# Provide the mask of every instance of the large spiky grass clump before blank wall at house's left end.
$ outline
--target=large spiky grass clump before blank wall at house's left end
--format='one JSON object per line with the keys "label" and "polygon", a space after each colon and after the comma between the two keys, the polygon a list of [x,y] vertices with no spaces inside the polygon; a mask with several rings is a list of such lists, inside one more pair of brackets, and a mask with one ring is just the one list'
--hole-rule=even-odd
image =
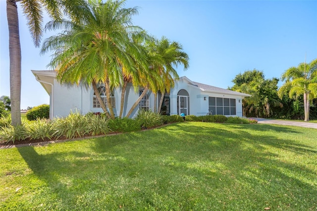
{"label": "large spiky grass clump before blank wall at house's left end", "polygon": [[78,111],[71,111],[65,118],[55,118],[53,120],[53,130],[53,136],[56,139],[62,136],[67,139],[73,139],[90,133],[88,118],[81,115]]}

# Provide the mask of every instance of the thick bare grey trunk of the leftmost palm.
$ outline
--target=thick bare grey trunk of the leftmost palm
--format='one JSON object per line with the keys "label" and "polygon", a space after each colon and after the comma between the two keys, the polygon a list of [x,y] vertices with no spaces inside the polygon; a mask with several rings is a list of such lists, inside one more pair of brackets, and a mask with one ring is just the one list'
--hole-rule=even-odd
{"label": "thick bare grey trunk of the leftmost palm", "polygon": [[15,0],[6,0],[9,27],[11,125],[21,124],[21,45],[19,18]]}

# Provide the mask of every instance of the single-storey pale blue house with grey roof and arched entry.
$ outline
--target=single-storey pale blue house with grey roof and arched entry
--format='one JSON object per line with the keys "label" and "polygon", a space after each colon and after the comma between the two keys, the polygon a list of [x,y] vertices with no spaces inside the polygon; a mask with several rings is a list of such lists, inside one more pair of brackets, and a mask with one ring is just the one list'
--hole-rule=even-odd
{"label": "single-storey pale blue house with grey roof and arched entry", "polygon": [[[32,70],[36,80],[39,81],[50,95],[50,118],[55,116],[67,116],[71,110],[79,110],[85,114],[88,112],[103,112],[93,88],[82,84],[59,84],[56,80],[56,72],[53,70]],[[105,87],[100,86],[99,92],[106,103]],[[135,92],[132,84],[129,84],[125,93],[123,116],[127,114],[132,105],[141,95],[142,90]],[[250,95],[222,89],[206,84],[193,82],[186,76],[175,81],[175,86],[169,94],[164,95],[162,110],[167,115],[207,115],[222,114],[226,116],[242,116],[242,99]],[[156,102],[159,103],[160,95]],[[154,110],[155,95],[149,91],[141,100],[132,117],[138,109]],[[115,89],[111,94],[111,104],[116,116],[120,112],[121,89]],[[158,107],[158,106],[157,106]]]}

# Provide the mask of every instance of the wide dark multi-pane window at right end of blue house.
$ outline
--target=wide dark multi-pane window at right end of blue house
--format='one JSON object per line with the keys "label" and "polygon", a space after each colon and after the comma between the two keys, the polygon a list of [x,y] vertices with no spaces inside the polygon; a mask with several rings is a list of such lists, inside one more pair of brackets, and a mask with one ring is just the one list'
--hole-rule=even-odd
{"label": "wide dark multi-pane window at right end of blue house", "polygon": [[209,97],[209,113],[211,115],[236,115],[236,99]]}

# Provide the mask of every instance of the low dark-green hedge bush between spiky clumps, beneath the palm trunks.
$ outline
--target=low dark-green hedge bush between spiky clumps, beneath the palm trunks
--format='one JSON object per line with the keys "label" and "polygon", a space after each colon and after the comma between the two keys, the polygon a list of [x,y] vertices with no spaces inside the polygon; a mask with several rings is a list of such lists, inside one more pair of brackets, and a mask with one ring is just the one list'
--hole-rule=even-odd
{"label": "low dark-green hedge bush between spiky clumps, beneath the palm trunks", "polygon": [[135,119],[130,119],[127,117],[115,119],[109,119],[109,129],[113,132],[132,132],[132,131],[139,131],[141,130],[140,123]]}

